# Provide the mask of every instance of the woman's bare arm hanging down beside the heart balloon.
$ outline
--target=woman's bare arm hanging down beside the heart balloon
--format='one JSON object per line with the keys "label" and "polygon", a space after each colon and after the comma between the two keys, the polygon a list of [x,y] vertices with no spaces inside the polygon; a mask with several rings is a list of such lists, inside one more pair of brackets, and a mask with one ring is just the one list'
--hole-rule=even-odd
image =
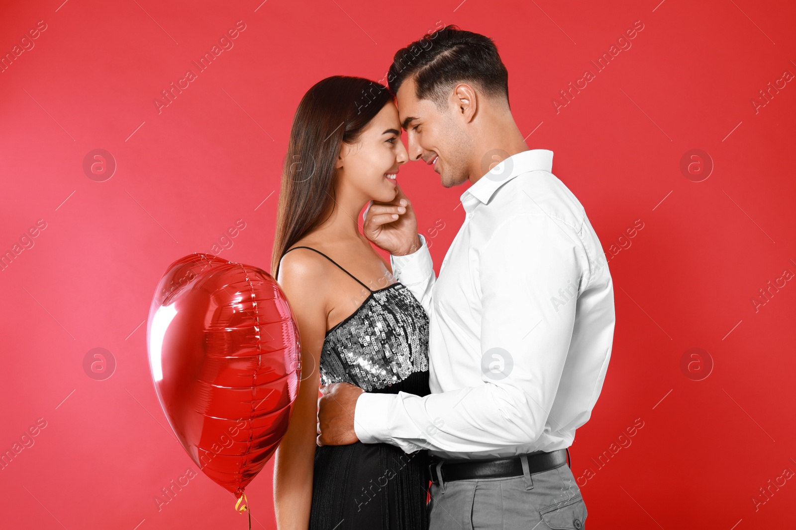
{"label": "woman's bare arm hanging down beside the heart balloon", "polygon": [[318,421],[318,359],[326,336],[326,302],[321,267],[301,250],[279,266],[279,284],[287,296],[301,341],[302,381],[291,421],[274,461],[274,508],[279,530],[306,530],[310,524],[312,479]]}

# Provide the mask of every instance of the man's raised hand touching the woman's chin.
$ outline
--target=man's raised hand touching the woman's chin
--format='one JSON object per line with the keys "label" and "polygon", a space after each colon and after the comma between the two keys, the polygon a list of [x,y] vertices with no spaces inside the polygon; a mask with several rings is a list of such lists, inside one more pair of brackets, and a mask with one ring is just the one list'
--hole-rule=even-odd
{"label": "man's raised hand touching the woman's chin", "polygon": [[[417,237],[417,218],[412,203],[400,186],[396,185],[396,196],[388,203],[371,201],[365,211],[362,230],[365,237],[393,256],[404,256],[420,248]],[[397,215],[393,218],[392,215]]]}

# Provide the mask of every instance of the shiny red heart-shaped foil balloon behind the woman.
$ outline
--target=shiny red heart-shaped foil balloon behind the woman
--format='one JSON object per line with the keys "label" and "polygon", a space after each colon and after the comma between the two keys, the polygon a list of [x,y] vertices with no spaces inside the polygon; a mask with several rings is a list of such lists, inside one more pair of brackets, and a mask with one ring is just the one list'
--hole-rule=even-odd
{"label": "shiny red heart-shaped foil balloon behind the woman", "polygon": [[287,431],[301,379],[298,327],[279,284],[211,254],[182,257],[155,291],[146,344],[177,439],[241,497]]}

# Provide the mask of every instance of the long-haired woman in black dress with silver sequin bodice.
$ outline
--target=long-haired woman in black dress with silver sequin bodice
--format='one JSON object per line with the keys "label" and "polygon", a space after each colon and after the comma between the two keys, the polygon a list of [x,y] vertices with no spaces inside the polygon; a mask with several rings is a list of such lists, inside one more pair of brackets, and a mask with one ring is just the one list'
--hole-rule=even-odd
{"label": "long-haired woman in black dress with silver sequin bodice", "polygon": [[[274,470],[280,530],[427,527],[427,454],[388,444],[316,445],[318,385],[419,396],[428,317],[357,225],[370,201],[410,208],[395,177],[408,160],[387,88],[335,75],[298,104],[285,158],[271,270],[298,324],[302,382]],[[404,221],[404,217],[408,218]]]}

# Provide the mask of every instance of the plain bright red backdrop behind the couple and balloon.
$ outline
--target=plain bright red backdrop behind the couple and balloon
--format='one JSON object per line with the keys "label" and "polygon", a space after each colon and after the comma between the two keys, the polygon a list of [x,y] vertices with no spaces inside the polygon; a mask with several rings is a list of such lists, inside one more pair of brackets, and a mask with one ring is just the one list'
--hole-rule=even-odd
{"label": "plain bright red backdrop behind the couple and balloon", "polygon": [[[201,473],[160,511],[154,501],[196,470],[150,379],[154,287],[238,219],[244,230],[218,255],[270,269],[303,93],[328,75],[382,79],[398,48],[451,23],[495,39],[517,125],[530,148],[555,153],[553,172],[612,256],[613,358],[572,446],[576,477],[594,473],[579,479],[587,528],[793,520],[794,479],[767,497],[759,488],[796,471],[796,286],[780,280],[757,311],[751,302],[796,273],[794,82],[757,112],[751,103],[796,72],[792,2],[62,1],[2,2],[0,13],[3,55],[47,25],[0,73],[0,252],[46,223],[0,273],[0,451],[46,422],[0,470],[5,528],[246,527]],[[234,47],[158,113],[154,99],[236,21],[246,29]],[[632,47],[556,113],[552,99],[635,21]],[[115,159],[109,180],[84,173],[92,149]],[[707,180],[681,172],[689,149],[712,158]],[[439,268],[465,188],[442,188],[424,164],[399,178]],[[643,229],[613,256],[637,219]],[[96,347],[116,363],[104,381],[83,367]],[[681,369],[694,347],[703,364]],[[712,372],[694,381],[708,356]],[[636,419],[631,445],[598,466]],[[247,490],[253,528],[274,527],[271,475],[272,462]]]}

